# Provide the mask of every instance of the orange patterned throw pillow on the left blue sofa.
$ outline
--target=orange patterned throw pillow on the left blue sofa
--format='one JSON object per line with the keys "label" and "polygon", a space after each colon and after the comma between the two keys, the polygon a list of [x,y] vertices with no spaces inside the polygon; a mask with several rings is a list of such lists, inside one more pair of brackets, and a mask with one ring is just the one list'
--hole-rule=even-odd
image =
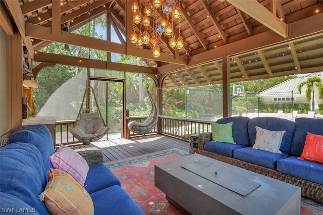
{"label": "orange patterned throw pillow on the left blue sofa", "polygon": [[94,214],[91,196],[70,174],[49,169],[48,180],[39,199],[51,214]]}

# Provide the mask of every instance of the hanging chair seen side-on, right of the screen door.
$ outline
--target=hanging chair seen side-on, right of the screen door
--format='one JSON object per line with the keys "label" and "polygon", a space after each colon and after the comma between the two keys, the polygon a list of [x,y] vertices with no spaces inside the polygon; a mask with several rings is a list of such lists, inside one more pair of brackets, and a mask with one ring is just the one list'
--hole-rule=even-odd
{"label": "hanging chair seen side-on, right of the screen door", "polygon": [[158,110],[157,110],[157,103],[156,101],[152,98],[150,92],[147,90],[149,99],[151,101],[151,112],[149,117],[142,122],[130,122],[128,123],[128,128],[130,131],[137,133],[137,134],[146,134],[149,131],[151,131],[157,124],[158,121]]}

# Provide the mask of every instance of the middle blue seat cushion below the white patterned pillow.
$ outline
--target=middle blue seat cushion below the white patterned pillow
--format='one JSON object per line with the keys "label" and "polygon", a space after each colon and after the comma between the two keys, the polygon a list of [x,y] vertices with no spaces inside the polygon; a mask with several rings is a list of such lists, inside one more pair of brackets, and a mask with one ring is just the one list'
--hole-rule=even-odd
{"label": "middle blue seat cushion below the white patterned pillow", "polygon": [[277,160],[288,157],[288,154],[286,152],[282,152],[282,154],[272,153],[248,146],[234,150],[233,157],[251,164],[276,170]]}

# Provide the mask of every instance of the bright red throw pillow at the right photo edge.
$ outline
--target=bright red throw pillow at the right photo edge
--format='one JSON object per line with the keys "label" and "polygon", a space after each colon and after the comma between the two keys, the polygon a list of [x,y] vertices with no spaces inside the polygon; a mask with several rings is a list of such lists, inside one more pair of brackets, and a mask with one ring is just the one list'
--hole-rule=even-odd
{"label": "bright red throw pillow at the right photo edge", "polygon": [[323,164],[323,136],[307,132],[302,160]]}

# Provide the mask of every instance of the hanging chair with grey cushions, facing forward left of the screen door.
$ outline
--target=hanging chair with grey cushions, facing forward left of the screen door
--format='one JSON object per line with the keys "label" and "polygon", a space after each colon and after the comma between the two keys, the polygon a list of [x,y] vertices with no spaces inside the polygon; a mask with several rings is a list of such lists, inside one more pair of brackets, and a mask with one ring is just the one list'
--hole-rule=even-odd
{"label": "hanging chair with grey cushions, facing forward left of the screen door", "polygon": [[[87,97],[87,101],[92,98],[92,102],[86,102],[87,105],[84,105],[85,97]],[[70,132],[78,140],[84,143],[90,143],[102,138],[107,131],[109,131],[109,128],[106,127],[106,124],[102,119],[94,89],[93,87],[88,86],[83,95],[79,114]]]}

